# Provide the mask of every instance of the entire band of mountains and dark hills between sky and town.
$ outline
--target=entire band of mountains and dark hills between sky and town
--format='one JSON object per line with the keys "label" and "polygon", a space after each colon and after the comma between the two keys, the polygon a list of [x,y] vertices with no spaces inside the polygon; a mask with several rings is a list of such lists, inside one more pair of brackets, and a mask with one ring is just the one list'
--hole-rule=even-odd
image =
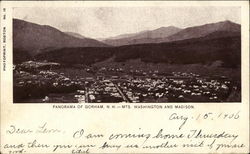
{"label": "entire band of mountains and dark hills between sky and town", "polygon": [[238,67],[241,26],[222,21],[185,29],[174,26],[124,34],[101,41],[51,26],[13,20],[14,63],[46,60],[63,64],[94,64],[112,59],[125,62],[211,64]]}

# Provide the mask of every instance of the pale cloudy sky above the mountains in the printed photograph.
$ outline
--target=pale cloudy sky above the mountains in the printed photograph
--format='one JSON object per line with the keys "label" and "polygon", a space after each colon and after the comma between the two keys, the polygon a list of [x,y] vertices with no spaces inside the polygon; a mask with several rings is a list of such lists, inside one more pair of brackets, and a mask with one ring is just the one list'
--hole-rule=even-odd
{"label": "pale cloudy sky above the mountains in the printed photograph", "polygon": [[13,17],[63,32],[108,38],[160,27],[187,28],[230,20],[240,24],[240,7],[82,7],[14,8]]}

